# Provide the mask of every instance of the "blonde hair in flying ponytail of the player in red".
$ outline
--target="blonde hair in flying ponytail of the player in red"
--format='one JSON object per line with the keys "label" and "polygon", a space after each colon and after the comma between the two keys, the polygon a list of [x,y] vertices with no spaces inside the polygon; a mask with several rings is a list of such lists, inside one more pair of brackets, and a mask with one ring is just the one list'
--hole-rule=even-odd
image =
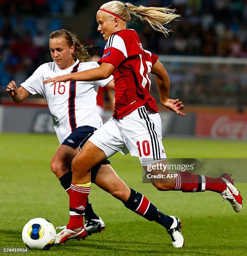
{"label": "blonde hair in flying ponytail of the player in red", "polygon": [[[165,25],[180,17],[180,15],[174,13],[174,9],[145,7],[143,5],[135,6],[131,3],[123,3],[121,1],[110,1],[103,4],[100,9],[108,10],[125,19],[125,21],[121,20],[120,22],[125,22],[126,25],[130,22],[130,14],[132,14],[142,21],[147,21],[154,30],[163,33],[165,36],[168,35],[168,32],[171,32]],[[113,18],[111,14],[107,13],[107,16],[109,19]]]}

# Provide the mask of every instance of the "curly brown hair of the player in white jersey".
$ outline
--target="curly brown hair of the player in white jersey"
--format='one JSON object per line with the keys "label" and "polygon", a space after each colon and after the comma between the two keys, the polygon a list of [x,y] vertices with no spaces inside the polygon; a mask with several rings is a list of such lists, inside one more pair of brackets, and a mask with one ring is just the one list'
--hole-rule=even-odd
{"label": "curly brown hair of the player in white jersey", "polygon": [[66,29],[59,29],[53,31],[50,34],[50,39],[63,37],[67,41],[67,45],[71,47],[72,45],[75,46],[75,51],[72,54],[74,59],[79,59],[81,62],[88,62],[90,61],[90,55],[87,51],[91,46],[84,46],[80,43],[79,39],[76,37],[75,34],[67,31]]}

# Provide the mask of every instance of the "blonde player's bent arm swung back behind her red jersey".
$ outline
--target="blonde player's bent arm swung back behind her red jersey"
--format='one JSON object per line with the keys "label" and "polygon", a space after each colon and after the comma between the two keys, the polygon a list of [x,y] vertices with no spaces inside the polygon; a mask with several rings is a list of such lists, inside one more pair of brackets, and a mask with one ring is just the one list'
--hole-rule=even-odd
{"label": "blonde player's bent arm swung back behind her red jersey", "polygon": [[181,112],[184,106],[181,101],[178,99],[173,100],[169,99],[170,93],[170,80],[168,73],[165,67],[161,64],[159,60],[155,62],[151,69],[151,73],[155,74],[155,80],[158,85],[159,95],[160,95],[160,102],[161,104],[168,108],[171,111],[176,112],[178,115],[185,116],[184,113]]}

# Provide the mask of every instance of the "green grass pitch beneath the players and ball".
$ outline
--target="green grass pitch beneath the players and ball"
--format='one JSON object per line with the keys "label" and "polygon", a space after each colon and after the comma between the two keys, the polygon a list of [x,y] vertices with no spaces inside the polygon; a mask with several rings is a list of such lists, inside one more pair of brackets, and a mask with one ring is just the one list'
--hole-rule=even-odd
{"label": "green grass pitch beneath the players and ball", "polygon": [[[29,219],[47,218],[54,226],[67,223],[68,196],[50,171],[50,159],[58,146],[55,136],[0,134],[0,141],[0,247],[18,248],[23,247],[21,230]],[[173,158],[247,156],[247,142],[241,141],[166,139],[163,144]],[[116,154],[110,160],[129,187],[145,194],[164,213],[181,218],[186,247],[173,248],[164,228],[132,213],[93,185],[90,201],[106,230],[85,241],[71,240],[29,255],[246,255],[245,207],[237,214],[213,192],[159,192],[142,183],[137,158]],[[238,188],[246,198],[246,184]]]}

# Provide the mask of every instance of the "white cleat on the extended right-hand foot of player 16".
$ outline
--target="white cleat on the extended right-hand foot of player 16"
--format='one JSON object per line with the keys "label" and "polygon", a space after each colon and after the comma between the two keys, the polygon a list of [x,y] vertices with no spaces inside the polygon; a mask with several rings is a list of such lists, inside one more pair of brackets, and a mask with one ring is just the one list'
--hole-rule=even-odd
{"label": "white cleat on the extended right-hand foot of player 16", "polygon": [[172,245],[176,248],[184,247],[185,241],[181,234],[181,221],[175,216],[169,216],[173,218],[171,227],[167,230],[167,233],[171,236]]}

